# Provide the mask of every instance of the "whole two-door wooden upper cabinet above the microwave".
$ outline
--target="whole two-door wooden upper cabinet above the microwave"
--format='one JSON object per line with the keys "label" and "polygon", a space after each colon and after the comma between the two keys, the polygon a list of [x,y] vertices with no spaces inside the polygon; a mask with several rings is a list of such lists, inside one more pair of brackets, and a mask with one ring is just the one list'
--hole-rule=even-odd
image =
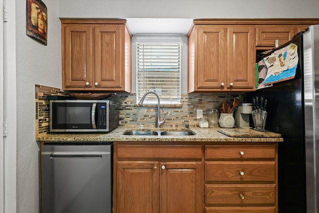
{"label": "whole two-door wooden upper cabinet above the microwave", "polygon": [[62,19],[62,87],[131,92],[126,20]]}

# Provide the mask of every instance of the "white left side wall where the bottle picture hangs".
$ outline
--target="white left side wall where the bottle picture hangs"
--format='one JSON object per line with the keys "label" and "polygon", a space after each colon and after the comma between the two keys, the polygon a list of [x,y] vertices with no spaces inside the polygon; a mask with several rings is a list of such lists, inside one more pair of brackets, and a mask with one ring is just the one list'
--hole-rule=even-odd
{"label": "white left side wall where the bottle picture hangs", "polygon": [[47,46],[25,33],[26,0],[16,0],[17,212],[39,212],[39,147],[35,142],[34,85],[61,88],[61,24],[58,1],[48,9]]}

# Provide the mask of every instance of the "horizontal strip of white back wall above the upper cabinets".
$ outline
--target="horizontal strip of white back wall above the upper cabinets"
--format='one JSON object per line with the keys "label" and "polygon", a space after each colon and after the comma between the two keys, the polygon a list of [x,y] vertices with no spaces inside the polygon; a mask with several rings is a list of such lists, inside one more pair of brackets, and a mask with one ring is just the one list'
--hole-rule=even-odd
{"label": "horizontal strip of white back wall above the upper cabinets", "polygon": [[60,0],[60,17],[318,17],[318,0]]}

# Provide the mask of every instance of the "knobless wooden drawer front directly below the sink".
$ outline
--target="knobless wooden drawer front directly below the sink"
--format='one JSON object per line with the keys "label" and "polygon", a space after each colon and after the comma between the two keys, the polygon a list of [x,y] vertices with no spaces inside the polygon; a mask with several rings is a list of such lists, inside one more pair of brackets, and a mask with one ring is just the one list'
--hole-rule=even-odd
{"label": "knobless wooden drawer front directly below the sink", "polygon": [[118,158],[185,158],[201,159],[202,147],[196,145],[130,145],[117,146]]}

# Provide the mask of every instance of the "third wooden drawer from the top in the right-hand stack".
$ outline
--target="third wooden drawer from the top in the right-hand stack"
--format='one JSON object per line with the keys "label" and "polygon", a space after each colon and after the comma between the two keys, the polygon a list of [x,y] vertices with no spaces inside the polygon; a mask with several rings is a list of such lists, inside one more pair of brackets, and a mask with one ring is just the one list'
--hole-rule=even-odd
{"label": "third wooden drawer from the top in the right-hand stack", "polygon": [[276,185],[205,185],[205,205],[275,205]]}

